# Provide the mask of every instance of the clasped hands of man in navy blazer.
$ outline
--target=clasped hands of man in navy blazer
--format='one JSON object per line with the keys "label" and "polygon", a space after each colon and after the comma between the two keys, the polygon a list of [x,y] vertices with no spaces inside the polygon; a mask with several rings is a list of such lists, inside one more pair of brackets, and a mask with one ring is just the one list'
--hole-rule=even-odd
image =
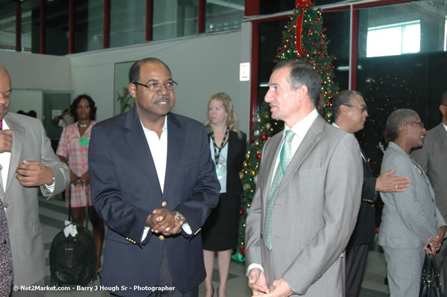
{"label": "clasped hands of man in navy blazer", "polygon": [[183,222],[168,209],[154,209],[146,219],[146,224],[150,226],[150,231],[170,236],[182,231]]}

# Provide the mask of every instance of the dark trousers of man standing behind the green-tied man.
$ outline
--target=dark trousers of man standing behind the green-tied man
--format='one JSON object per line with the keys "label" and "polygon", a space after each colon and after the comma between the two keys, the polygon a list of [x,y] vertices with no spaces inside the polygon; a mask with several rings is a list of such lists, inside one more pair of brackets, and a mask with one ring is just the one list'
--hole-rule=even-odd
{"label": "dark trousers of man standing behind the green-tied man", "polygon": [[369,244],[346,247],[346,297],[358,297]]}

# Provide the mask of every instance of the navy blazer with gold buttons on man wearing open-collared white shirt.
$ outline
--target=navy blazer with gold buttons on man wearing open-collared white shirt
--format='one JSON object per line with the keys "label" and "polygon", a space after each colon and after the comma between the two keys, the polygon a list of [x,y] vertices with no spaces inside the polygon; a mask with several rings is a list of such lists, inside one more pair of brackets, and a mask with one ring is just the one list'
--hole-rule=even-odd
{"label": "navy blazer with gold buttons on man wearing open-collared white shirt", "polygon": [[[91,132],[93,205],[108,225],[102,284],[118,286],[113,292],[118,296],[148,296],[150,291],[133,286],[155,286],[163,256],[180,292],[205,279],[199,232],[218,202],[220,185],[205,126],[173,113],[167,119],[163,193],[135,107],[96,124]],[[163,205],[183,214],[192,234],[182,231],[163,239],[149,232],[141,241],[146,218]]]}

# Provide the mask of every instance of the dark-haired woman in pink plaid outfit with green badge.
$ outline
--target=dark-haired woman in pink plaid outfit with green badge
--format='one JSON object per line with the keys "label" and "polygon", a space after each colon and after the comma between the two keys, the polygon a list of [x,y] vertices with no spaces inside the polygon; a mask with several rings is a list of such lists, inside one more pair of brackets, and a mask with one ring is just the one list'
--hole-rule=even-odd
{"label": "dark-haired woman in pink plaid outfit with green badge", "polygon": [[88,174],[88,142],[90,141],[91,128],[95,125],[95,101],[89,95],[78,95],[70,108],[75,123],[63,128],[56,155],[71,170],[70,190],[66,192],[66,197],[68,197],[66,204],[68,205],[68,199],[70,199],[73,223],[79,226],[83,225],[88,203],[88,217],[93,225],[93,237],[96,246],[96,268],[100,270],[104,224],[96,214],[91,202]]}

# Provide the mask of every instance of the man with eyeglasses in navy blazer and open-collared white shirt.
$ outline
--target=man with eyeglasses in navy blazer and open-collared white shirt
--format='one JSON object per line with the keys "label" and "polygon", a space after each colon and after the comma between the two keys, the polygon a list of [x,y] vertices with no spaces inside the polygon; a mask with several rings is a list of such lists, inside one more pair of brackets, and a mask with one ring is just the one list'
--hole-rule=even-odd
{"label": "man with eyeglasses in navy blazer and open-collared white shirt", "polygon": [[220,184],[205,126],[170,113],[177,85],[157,58],[133,64],[135,106],[92,130],[93,205],[108,225],[102,285],[116,296],[198,296],[200,228]]}

